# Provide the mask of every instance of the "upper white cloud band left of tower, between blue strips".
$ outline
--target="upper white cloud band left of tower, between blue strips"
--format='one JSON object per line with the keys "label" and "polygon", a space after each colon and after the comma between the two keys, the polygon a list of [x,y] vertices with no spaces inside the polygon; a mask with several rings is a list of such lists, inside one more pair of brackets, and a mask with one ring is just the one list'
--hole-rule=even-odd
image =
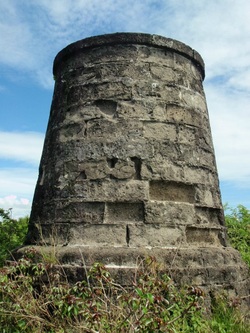
{"label": "upper white cloud band left of tower, between blue strips", "polygon": [[38,165],[43,141],[42,133],[0,131],[0,158]]}

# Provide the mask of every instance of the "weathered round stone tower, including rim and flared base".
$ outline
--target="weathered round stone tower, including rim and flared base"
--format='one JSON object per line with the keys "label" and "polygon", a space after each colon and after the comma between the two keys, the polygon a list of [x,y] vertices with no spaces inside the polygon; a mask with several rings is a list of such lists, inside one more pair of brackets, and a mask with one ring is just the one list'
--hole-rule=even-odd
{"label": "weathered round stone tower, including rim and flared base", "polygon": [[87,38],[54,62],[27,244],[121,280],[154,255],[181,282],[246,291],[227,247],[201,56],[148,34]]}

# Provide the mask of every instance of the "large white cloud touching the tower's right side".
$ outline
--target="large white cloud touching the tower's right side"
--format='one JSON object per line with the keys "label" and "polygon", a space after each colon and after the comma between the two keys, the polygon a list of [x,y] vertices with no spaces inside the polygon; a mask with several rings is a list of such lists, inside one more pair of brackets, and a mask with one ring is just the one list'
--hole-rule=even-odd
{"label": "large white cloud touching the tower's right side", "polygon": [[250,98],[212,83],[206,96],[220,178],[250,186]]}

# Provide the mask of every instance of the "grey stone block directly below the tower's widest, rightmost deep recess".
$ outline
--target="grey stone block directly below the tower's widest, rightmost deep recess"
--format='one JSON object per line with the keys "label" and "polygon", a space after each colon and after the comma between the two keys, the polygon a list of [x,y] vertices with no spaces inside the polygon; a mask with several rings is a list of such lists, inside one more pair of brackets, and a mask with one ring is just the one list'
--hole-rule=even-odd
{"label": "grey stone block directly below the tower's widest, rightmost deep recess", "polygon": [[177,226],[195,222],[195,210],[192,204],[166,201],[145,203],[145,223]]}

